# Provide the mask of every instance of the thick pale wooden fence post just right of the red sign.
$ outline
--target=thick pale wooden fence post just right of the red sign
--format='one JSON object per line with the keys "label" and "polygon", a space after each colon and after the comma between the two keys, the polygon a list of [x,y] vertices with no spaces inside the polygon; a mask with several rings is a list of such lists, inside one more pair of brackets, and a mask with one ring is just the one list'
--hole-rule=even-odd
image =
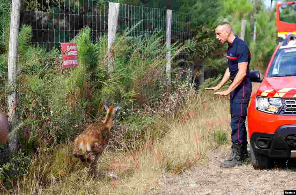
{"label": "thick pale wooden fence post just right of the red sign", "polygon": [[110,74],[113,70],[114,55],[111,47],[115,41],[116,29],[118,24],[119,3],[109,3],[108,10],[108,48],[107,48],[107,72]]}

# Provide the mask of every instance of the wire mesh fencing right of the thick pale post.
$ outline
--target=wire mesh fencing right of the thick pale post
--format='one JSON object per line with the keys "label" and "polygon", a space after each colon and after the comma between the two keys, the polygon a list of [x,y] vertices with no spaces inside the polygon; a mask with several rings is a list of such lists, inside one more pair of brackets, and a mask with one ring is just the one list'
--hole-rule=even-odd
{"label": "wire mesh fencing right of the thick pale post", "polygon": [[[118,31],[123,32],[126,28],[131,29],[134,24],[139,25],[131,31],[131,36],[150,36],[153,32],[158,32],[163,37],[163,44],[166,41],[166,9],[149,8],[120,4]],[[184,42],[190,39],[190,18],[189,14],[172,11],[171,20],[171,43]],[[176,56],[182,68],[187,67],[185,52]]]}

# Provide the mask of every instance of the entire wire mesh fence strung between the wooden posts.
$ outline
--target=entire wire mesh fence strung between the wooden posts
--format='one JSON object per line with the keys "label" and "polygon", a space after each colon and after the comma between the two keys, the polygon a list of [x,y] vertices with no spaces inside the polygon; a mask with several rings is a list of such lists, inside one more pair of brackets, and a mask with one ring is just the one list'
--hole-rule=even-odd
{"label": "entire wire mesh fence strung between the wooden posts", "polygon": [[[91,28],[92,41],[96,42],[99,36],[108,32],[108,3],[109,1],[105,0],[23,0],[20,27],[23,24],[30,25],[33,45],[46,47],[47,50],[54,46],[59,47],[60,43],[70,42],[83,27]],[[10,11],[9,5],[4,7],[0,3],[1,53],[4,53],[4,40],[9,39],[9,33],[4,33],[2,25],[5,23],[5,17],[2,17],[1,13],[4,11]],[[140,21],[142,22],[130,36],[149,36],[159,31],[165,43],[166,9],[120,4],[117,32],[122,33],[127,27],[131,28]],[[189,14],[172,12],[172,44],[190,38],[189,25]],[[186,58],[185,53],[177,56],[177,60],[183,59],[183,65],[186,64]]]}

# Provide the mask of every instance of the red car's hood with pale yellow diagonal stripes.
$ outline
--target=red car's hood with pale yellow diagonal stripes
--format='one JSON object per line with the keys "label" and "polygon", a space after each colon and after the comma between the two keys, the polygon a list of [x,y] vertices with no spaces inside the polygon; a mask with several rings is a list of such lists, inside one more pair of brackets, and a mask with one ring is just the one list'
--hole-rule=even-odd
{"label": "red car's hood with pale yellow diagonal stripes", "polygon": [[263,79],[257,95],[268,97],[296,98],[296,76],[266,77]]}

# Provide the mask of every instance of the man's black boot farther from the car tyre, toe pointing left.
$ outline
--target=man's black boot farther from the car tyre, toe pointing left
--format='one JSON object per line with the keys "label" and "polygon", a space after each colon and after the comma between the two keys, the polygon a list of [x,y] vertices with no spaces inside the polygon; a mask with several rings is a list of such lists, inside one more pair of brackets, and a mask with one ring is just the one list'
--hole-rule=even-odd
{"label": "man's black boot farther from the car tyre, toe pointing left", "polygon": [[242,165],[242,144],[233,143],[231,147],[231,156],[221,163],[221,168],[230,168]]}

